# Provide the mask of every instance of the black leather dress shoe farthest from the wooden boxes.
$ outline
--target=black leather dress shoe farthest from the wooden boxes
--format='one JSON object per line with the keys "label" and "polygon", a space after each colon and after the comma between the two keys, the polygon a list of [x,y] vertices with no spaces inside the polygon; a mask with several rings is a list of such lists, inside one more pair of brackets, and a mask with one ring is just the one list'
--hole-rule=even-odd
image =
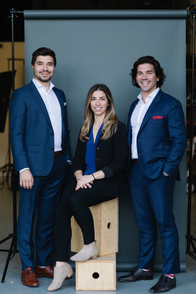
{"label": "black leather dress shoe farthest from the wooden boxes", "polygon": [[152,293],[165,293],[175,288],[175,286],[176,286],[175,276],[173,279],[171,279],[167,275],[161,275],[159,278],[159,281],[152,288],[150,288],[149,291]]}

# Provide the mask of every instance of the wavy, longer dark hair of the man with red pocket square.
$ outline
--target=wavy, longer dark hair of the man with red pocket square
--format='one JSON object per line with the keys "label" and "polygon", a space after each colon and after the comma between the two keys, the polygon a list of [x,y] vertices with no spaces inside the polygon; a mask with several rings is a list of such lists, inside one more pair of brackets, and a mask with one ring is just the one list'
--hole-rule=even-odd
{"label": "wavy, longer dark hair of the man with red pocket square", "polygon": [[135,63],[133,64],[133,69],[131,70],[130,75],[132,76],[132,84],[133,86],[136,86],[137,88],[140,88],[137,81],[136,81],[136,75],[138,71],[138,65],[150,63],[153,64],[156,77],[159,78],[159,81],[157,82],[157,87],[161,87],[165,81],[166,75],[164,74],[163,68],[160,66],[160,63],[154,59],[153,56],[143,56],[140,57]]}

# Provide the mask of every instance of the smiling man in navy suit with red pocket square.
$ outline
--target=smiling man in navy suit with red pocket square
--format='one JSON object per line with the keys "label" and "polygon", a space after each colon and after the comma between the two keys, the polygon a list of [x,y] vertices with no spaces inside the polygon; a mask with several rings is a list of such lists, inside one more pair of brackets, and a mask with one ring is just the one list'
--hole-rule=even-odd
{"label": "smiling man in navy suit with red pocket square", "polygon": [[164,293],[176,285],[180,273],[179,237],[173,215],[175,180],[186,149],[185,119],[180,101],[163,93],[163,68],[152,56],[140,57],[131,70],[141,93],[128,116],[128,180],[140,233],[139,264],[122,282],[152,280],[157,225],[163,253],[163,271],[150,292]]}

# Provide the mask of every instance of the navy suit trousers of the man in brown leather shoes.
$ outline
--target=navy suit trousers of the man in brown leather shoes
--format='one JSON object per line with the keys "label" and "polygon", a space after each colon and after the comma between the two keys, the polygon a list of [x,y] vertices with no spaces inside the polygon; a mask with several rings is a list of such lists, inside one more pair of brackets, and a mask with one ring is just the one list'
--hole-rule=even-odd
{"label": "navy suit trousers of the man in brown leather shoes", "polygon": [[36,265],[50,265],[49,254],[55,220],[55,210],[63,188],[68,162],[63,155],[54,158],[47,176],[33,176],[30,190],[20,188],[19,216],[17,220],[17,243],[22,270],[34,267],[33,223],[38,211],[36,225]]}

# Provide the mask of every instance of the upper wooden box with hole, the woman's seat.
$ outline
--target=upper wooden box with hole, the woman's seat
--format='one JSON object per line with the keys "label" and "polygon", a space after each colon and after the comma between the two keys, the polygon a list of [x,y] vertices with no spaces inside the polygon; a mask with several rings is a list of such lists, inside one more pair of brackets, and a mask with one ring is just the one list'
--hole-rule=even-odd
{"label": "upper wooden box with hole, the woman's seat", "polygon": [[[92,195],[93,197],[93,195]],[[91,206],[97,240],[98,255],[118,252],[118,197],[95,206]],[[83,235],[75,218],[71,218],[71,251],[78,252],[83,247]]]}

